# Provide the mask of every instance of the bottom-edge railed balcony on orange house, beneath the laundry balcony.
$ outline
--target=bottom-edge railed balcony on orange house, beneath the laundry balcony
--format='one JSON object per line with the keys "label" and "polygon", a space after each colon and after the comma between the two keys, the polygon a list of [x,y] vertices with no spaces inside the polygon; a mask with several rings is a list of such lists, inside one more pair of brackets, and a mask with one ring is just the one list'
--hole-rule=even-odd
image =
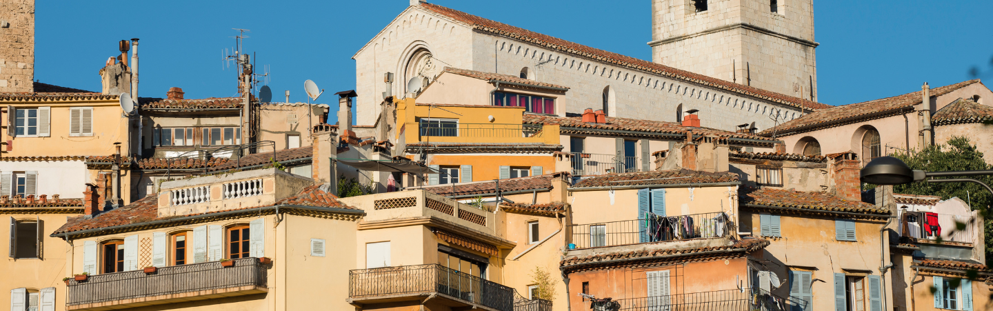
{"label": "bottom-edge railed balcony on orange house, beneath the laundry balcony", "polygon": [[[595,305],[591,306],[590,304]],[[771,294],[766,290],[743,288],[618,299],[608,303],[587,301],[586,306],[589,306],[587,309],[596,311],[788,311],[791,304],[789,299]],[[797,305],[797,307],[799,306]]]}

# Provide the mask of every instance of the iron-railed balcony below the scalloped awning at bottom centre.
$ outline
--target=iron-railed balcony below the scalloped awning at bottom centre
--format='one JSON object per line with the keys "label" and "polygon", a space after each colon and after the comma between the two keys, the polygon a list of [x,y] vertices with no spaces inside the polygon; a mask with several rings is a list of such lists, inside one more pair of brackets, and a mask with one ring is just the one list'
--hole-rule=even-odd
{"label": "iron-railed balcony below the scalloped awning at bottom centre", "polygon": [[513,290],[438,264],[349,271],[349,302],[368,305],[435,296],[451,308],[512,311]]}

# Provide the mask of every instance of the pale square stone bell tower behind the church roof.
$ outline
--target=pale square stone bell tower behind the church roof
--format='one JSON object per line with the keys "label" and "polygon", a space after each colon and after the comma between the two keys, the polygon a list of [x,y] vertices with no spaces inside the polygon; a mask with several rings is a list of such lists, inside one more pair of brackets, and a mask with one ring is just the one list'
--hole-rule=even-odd
{"label": "pale square stone bell tower behind the church roof", "polygon": [[813,0],[651,0],[652,62],[817,99]]}

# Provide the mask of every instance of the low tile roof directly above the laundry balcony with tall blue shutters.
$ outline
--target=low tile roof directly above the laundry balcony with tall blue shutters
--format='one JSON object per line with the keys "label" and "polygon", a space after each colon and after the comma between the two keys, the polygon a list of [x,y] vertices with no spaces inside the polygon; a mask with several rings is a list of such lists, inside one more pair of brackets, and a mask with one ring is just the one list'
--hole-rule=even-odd
{"label": "low tile roof directly above the laundry balcony with tall blue shutters", "polygon": [[573,188],[638,185],[682,185],[737,182],[738,174],[708,173],[686,169],[597,175],[580,180]]}

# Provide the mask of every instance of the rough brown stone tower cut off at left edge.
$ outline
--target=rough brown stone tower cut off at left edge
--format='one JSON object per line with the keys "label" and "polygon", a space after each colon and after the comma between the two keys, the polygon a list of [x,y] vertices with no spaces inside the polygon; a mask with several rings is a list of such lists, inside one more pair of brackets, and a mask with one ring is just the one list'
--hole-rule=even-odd
{"label": "rough brown stone tower cut off at left edge", "polygon": [[0,91],[34,91],[35,0],[0,0]]}

